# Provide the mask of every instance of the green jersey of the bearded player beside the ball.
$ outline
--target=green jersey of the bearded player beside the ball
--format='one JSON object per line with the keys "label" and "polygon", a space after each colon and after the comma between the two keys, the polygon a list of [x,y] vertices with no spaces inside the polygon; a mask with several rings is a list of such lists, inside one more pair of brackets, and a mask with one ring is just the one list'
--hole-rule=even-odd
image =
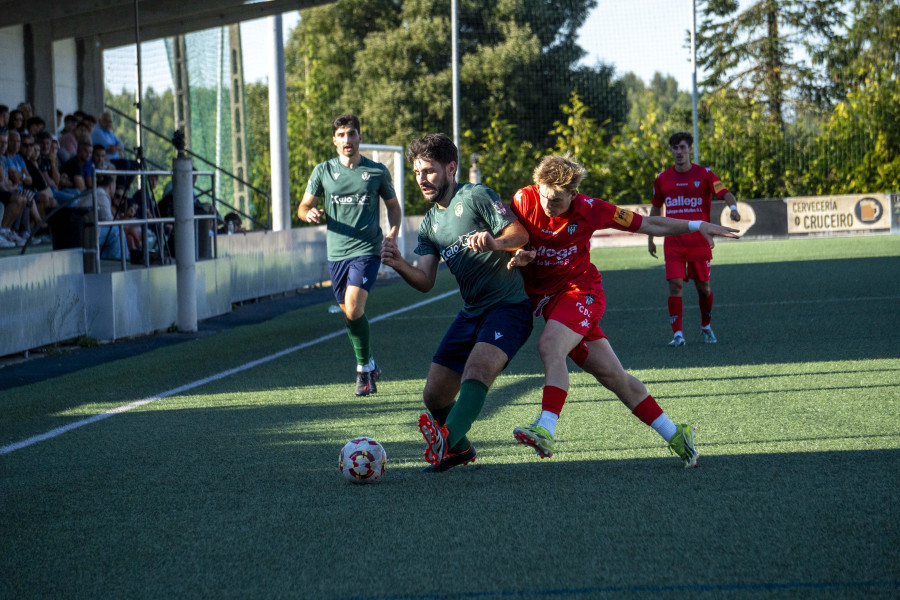
{"label": "green jersey of the bearded player beside the ball", "polygon": [[459,283],[463,311],[479,315],[501,303],[527,298],[518,269],[509,270],[506,250],[475,252],[467,247],[469,236],[489,231],[497,236],[515,215],[489,187],[461,183],[446,209],[432,206],[419,226],[416,254],[436,254],[444,259]]}

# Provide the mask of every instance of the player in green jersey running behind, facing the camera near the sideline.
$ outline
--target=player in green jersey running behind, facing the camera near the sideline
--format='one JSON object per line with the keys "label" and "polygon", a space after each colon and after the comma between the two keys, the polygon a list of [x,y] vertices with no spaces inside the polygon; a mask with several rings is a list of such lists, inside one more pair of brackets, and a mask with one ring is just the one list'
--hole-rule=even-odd
{"label": "player in green jersey running behind, facing the camera near the sideline", "polygon": [[[309,223],[327,217],[325,235],[334,297],[344,313],[356,354],[356,395],[378,391],[381,369],[372,356],[366,300],[381,267],[382,240],[396,239],[401,211],[387,167],[359,153],[359,118],[344,114],[331,124],[338,155],[313,169],[297,217]],[[390,231],[381,233],[378,198],[387,208]],[[324,199],[324,208],[318,208]]]}

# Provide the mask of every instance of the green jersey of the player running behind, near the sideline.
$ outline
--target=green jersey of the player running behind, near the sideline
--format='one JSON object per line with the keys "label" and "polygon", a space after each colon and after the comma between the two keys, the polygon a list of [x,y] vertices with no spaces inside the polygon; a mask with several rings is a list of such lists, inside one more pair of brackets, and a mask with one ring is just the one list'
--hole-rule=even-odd
{"label": "green jersey of the player running behind, near the sideline", "polygon": [[387,167],[363,156],[351,169],[334,157],[316,165],[306,191],[325,198],[328,260],[381,254],[378,197],[396,196]]}

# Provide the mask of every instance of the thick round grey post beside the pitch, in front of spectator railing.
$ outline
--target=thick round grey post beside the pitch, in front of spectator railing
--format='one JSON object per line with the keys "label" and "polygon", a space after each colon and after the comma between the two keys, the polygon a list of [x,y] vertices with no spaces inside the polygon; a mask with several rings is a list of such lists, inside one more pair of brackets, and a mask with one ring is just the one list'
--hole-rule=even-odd
{"label": "thick round grey post beside the pitch, in front of spectator railing", "polygon": [[197,331],[197,279],[194,256],[194,175],[191,159],[180,153],[172,161],[175,199],[175,275],[178,289],[178,331]]}

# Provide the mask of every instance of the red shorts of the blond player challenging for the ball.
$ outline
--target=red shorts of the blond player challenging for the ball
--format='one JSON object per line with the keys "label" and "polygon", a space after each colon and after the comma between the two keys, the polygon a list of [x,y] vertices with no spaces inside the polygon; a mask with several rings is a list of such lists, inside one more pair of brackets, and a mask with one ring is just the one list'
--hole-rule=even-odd
{"label": "red shorts of the blond player challenging for the ball", "polygon": [[559,321],[581,335],[581,342],[569,352],[579,367],[587,360],[587,343],[606,337],[600,329],[600,318],[606,310],[606,295],[602,289],[590,292],[566,290],[553,296],[541,296],[531,300],[531,307],[534,316],[543,316],[545,321]]}

